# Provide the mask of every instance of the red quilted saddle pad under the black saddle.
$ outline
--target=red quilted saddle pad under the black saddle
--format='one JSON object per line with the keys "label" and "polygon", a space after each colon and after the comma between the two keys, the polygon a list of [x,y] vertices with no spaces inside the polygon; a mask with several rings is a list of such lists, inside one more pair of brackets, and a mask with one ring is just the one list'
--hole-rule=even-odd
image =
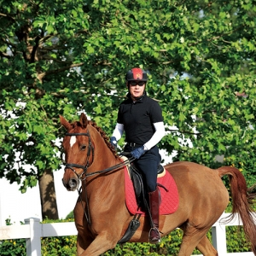
{"label": "red quilted saddle pad under the black saddle", "polygon": [[[159,186],[160,195],[161,195],[161,203],[160,203],[160,215],[167,215],[177,211],[178,207],[178,192],[177,185],[170,174],[165,170],[166,174],[163,177],[157,178],[157,183],[163,185],[166,189],[163,189]],[[131,214],[141,213],[143,216],[146,212],[141,211],[141,209],[137,210],[137,201],[135,196],[135,191],[133,188],[133,184],[131,182],[131,178],[129,176],[128,170],[125,167],[125,203]]]}

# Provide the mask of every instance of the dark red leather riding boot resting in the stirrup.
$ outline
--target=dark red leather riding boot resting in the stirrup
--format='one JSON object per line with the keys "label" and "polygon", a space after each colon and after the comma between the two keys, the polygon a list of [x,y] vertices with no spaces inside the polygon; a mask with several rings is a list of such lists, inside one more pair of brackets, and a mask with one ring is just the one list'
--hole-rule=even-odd
{"label": "dark red leather riding boot resting in the stirrup", "polygon": [[155,189],[153,192],[148,193],[149,207],[152,216],[154,226],[149,230],[149,242],[160,242],[159,228],[159,207],[160,207],[160,192],[159,189]]}

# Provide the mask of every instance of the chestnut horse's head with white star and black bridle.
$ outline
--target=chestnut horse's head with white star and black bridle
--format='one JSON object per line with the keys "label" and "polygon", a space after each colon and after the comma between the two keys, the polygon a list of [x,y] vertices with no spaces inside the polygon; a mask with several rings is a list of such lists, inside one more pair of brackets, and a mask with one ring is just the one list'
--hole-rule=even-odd
{"label": "chestnut horse's head with white star and black bridle", "polygon": [[80,120],[69,123],[60,116],[61,125],[66,130],[66,136],[63,139],[66,167],[62,178],[63,185],[67,190],[79,188],[79,180],[83,178],[84,173],[93,161],[93,146],[89,133],[89,120],[84,113]]}

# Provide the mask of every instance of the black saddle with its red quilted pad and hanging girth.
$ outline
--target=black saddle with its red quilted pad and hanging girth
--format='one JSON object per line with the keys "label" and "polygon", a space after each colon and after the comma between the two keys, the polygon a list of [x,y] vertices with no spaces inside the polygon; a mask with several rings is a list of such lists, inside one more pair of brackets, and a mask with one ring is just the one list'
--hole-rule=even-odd
{"label": "black saddle with its red quilted pad and hanging girth", "polygon": [[[122,157],[125,161],[127,158]],[[168,215],[177,211],[178,208],[178,191],[177,185],[170,174],[166,172],[163,166],[159,166],[159,174],[157,177],[157,186],[160,190],[160,215]],[[143,186],[143,176],[133,164],[125,166],[125,204],[129,212],[133,215],[131,222],[125,231],[125,235],[119,240],[119,243],[129,241],[131,236],[140,226],[139,218],[148,215],[150,224],[152,218],[148,207],[148,191]],[[171,193],[172,191],[172,193]],[[144,209],[142,209],[142,207]]]}

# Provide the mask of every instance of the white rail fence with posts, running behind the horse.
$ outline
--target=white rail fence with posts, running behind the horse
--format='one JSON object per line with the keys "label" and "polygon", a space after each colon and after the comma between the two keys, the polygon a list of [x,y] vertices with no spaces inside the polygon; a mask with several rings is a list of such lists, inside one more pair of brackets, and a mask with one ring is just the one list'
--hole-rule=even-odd
{"label": "white rail fence with posts, running behind the horse", "polygon": [[[224,213],[221,218],[228,215]],[[219,220],[212,226],[212,244],[218,250],[218,255],[253,256],[253,253],[227,253],[225,226],[238,225],[239,221],[237,217],[229,224],[223,224]],[[25,224],[22,225],[0,227],[0,240],[26,238],[27,256],[41,255],[41,237],[76,235],[77,230],[73,222],[40,224],[39,218],[26,218]]]}

